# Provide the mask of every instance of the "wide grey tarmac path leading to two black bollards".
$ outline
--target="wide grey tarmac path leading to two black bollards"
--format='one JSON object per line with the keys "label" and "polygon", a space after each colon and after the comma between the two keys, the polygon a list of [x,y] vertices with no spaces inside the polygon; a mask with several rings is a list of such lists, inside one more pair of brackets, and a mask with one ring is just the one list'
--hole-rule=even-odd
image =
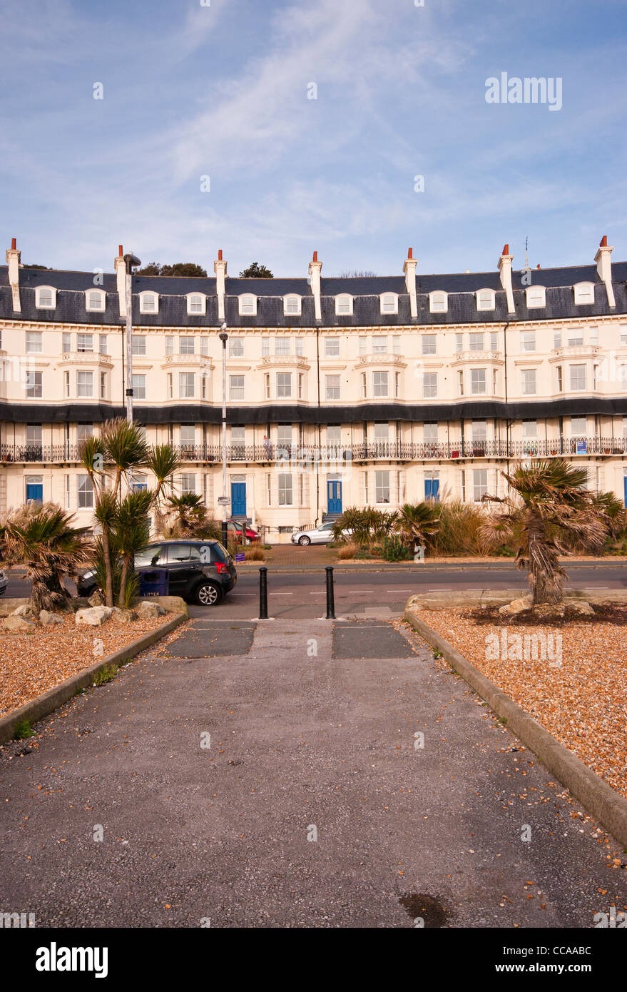
{"label": "wide grey tarmac path leading to two black bollards", "polygon": [[0,752],[0,911],[39,927],[589,928],[627,906],[611,840],[384,620],[198,620],[38,729]]}

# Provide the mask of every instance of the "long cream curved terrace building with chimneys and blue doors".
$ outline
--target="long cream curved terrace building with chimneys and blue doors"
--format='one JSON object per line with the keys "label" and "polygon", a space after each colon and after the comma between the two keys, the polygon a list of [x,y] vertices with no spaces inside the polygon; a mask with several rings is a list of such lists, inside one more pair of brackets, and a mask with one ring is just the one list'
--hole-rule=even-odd
{"label": "long cream curved terrace building with chimneys and blue doors", "polygon": [[[222,495],[226,323],[231,514],[289,540],[346,506],[503,494],[514,460],[564,454],[627,493],[627,263],[422,275],[134,276],[134,416],[183,458],[179,491]],[[125,263],[0,267],[0,510],[54,500],[90,520],[77,444],[125,416]],[[151,479],[135,477],[136,485]]]}

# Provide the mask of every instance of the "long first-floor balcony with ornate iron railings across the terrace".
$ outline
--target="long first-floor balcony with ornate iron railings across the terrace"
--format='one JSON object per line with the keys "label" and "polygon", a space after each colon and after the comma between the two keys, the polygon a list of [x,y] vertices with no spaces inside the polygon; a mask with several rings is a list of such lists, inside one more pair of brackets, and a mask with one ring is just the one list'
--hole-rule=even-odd
{"label": "long first-floor balcony with ornate iron railings across the terrace", "polygon": [[[77,444],[0,444],[0,464],[77,462]],[[220,444],[175,444],[183,462],[221,463]],[[461,461],[468,458],[551,458],[627,454],[627,437],[550,437],[523,440],[368,441],[361,444],[228,444],[229,463],[338,463],[365,461]]]}

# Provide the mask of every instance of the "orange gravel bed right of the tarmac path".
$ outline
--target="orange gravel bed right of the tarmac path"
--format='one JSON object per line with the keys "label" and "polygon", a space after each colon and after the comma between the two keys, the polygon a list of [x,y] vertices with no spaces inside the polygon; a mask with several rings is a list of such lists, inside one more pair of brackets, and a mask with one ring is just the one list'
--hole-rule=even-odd
{"label": "orange gravel bed right of the tarmac path", "polygon": [[[500,617],[496,608],[415,612],[627,797],[627,610],[600,606],[594,611],[589,619],[566,617],[543,625],[529,614],[516,620]],[[524,641],[525,635],[543,634],[544,660],[542,640],[528,641],[527,648]],[[516,635],[522,638],[522,651]],[[552,644],[551,635],[562,642]]]}

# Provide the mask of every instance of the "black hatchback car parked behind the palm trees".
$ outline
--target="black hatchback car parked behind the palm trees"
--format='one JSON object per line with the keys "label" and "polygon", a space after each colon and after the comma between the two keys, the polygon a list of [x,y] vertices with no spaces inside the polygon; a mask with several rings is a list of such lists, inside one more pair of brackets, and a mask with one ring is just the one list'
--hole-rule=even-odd
{"label": "black hatchback car parked behind the palm trees", "polygon": [[[182,596],[200,606],[215,606],[237,581],[233,558],[219,541],[159,541],[135,556],[140,575],[165,569],[171,596]],[[79,576],[79,596],[90,596],[98,585],[93,570]]]}

